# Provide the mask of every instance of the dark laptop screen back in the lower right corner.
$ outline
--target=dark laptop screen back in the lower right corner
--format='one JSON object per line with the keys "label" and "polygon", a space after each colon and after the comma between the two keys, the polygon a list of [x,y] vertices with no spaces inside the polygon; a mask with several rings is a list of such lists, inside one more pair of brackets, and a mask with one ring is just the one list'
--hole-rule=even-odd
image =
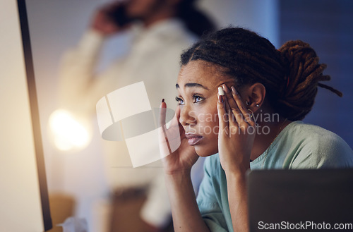
{"label": "dark laptop screen back in the lower right corner", "polygon": [[250,231],[353,231],[353,169],[254,170]]}

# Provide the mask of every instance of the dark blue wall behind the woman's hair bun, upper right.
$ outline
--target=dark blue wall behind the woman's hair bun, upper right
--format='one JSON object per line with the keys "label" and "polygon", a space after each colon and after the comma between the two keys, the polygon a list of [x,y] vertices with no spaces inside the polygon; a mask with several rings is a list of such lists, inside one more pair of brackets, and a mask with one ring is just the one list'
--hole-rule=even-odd
{"label": "dark blue wall behind the woman's hair bun, upper right", "polygon": [[292,39],[308,42],[331,76],[324,84],[343,97],[319,87],[316,104],[304,121],[340,135],[353,147],[353,1],[280,1],[280,44]]}

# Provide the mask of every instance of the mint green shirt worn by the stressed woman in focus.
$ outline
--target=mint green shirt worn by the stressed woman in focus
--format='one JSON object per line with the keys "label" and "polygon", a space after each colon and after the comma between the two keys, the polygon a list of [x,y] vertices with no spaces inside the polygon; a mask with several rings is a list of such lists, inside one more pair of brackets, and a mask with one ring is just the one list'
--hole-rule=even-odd
{"label": "mint green shirt worn by the stressed woman in focus", "polygon": [[[338,135],[319,126],[294,121],[251,161],[254,169],[321,169],[353,167],[353,151]],[[212,232],[233,231],[225,171],[218,154],[207,157],[197,202]]]}

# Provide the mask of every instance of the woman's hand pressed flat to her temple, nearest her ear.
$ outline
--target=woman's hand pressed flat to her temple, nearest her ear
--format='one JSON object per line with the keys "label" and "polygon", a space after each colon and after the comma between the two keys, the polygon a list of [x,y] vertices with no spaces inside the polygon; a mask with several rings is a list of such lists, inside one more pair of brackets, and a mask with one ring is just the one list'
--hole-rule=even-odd
{"label": "woman's hand pressed flat to her temple, nearest her ear", "polygon": [[250,154],[256,135],[256,123],[239,92],[223,85],[225,95],[218,95],[217,111],[220,130],[218,152],[226,173],[244,174],[250,168]]}

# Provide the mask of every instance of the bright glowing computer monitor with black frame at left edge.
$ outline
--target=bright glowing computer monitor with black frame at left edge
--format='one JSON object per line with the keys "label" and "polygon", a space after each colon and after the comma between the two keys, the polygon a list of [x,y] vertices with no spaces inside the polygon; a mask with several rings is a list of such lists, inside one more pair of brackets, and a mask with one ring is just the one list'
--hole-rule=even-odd
{"label": "bright glowing computer monitor with black frame at left edge", "polygon": [[0,231],[52,228],[24,0],[0,1]]}

